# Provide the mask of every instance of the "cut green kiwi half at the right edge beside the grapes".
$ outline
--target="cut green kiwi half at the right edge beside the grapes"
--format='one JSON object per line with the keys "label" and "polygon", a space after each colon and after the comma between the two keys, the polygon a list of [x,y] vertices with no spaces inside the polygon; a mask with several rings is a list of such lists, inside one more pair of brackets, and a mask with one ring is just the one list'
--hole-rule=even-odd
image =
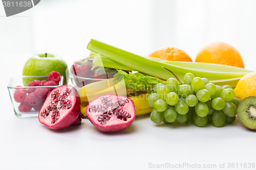
{"label": "cut green kiwi half at the right edge beside the grapes", "polygon": [[248,96],[238,105],[238,118],[249,129],[256,129],[256,96]]}

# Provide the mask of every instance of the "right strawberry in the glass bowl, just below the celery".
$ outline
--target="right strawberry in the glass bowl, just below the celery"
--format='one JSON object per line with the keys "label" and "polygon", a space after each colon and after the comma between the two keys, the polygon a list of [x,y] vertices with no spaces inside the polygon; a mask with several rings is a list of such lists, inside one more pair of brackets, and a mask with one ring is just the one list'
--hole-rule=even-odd
{"label": "right strawberry in the glass bowl, just below the celery", "polygon": [[111,79],[114,78],[114,75],[117,73],[116,69],[113,68],[104,68],[98,67],[93,75],[94,79]]}

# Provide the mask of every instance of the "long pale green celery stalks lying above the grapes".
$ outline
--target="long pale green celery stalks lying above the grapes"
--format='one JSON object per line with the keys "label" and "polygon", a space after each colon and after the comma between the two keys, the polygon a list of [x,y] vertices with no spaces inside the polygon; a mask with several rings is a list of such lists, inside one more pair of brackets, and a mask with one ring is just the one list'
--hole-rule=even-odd
{"label": "long pale green celery stalks lying above the grapes", "polygon": [[162,66],[172,70],[181,80],[187,72],[191,72],[191,74],[195,75],[196,77],[205,77],[208,80],[239,78],[247,74],[247,72],[212,72],[176,66],[174,64],[168,64],[135,55],[95,39],[91,39],[87,48],[94,53],[109,57],[112,60],[125,65],[126,67],[132,68],[132,70],[144,72],[147,75],[155,76],[164,80],[172,77],[172,75],[170,75],[167,70],[163,69]]}

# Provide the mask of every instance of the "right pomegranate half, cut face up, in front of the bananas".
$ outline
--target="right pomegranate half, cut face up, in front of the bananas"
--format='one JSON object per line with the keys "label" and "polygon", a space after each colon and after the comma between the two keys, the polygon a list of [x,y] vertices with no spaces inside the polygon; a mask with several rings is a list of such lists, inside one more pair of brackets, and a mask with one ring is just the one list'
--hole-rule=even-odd
{"label": "right pomegranate half, cut face up, in front of the bananas", "polygon": [[102,95],[86,108],[90,122],[103,132],[118,132],[132,125],[136,113],[134,102],[122,95]]}

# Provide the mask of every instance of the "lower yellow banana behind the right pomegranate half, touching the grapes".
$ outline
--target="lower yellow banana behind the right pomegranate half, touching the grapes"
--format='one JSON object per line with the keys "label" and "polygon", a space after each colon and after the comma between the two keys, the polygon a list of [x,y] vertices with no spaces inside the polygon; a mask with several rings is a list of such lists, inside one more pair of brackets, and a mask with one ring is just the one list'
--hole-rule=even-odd
{"label": "lower yellow banana behind the right pomegranate half, touching the grapes", "polygon": [[[149,106],[146,103],[146,96],[147,96],[147,93],[129,97],[134,102],[136,116],[150,113],[153,110],[153,107]],[[81,102],[81,113],[84,116],[86,116],[87,105],[88,105],[88,102]]]}

